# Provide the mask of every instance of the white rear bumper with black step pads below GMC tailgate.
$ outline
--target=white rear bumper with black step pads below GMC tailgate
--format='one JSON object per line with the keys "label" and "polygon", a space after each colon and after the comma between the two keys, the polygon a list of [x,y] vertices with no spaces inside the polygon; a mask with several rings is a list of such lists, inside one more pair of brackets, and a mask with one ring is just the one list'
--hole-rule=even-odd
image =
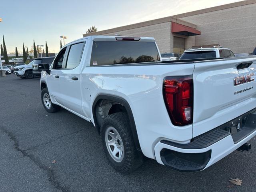
{"label": "white rear bumper with black step pads below GMC tailgate", "polygon": [[[242,129],[232,134],[226,128],[246,117]],[[179,171],[204,170],[224,158],[256,135],[256,112],[248,112],[188,144],[160,140],[154,147],[158,163]]]}

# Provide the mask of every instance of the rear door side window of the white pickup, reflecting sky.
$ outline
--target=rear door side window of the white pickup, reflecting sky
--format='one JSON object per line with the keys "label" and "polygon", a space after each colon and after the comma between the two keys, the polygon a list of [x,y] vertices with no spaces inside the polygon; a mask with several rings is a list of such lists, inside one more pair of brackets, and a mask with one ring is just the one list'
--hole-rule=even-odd
{"label": "rear door side window of the white pickup, reflecting sky", "polygon": [[82,52],[84,48],[84,42],[73,44],[70,46],[70,50],[68,53],[68,59],[66,63],[67,69],[76,68],[81,60]]}

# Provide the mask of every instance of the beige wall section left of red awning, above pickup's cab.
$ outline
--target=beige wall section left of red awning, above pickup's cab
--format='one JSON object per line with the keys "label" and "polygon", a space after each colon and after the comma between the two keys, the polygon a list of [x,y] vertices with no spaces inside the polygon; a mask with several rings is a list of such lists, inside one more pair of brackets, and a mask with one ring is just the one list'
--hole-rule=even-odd
{"label": "beige wall section left of red awning, above pickup's cab", "polygon": [[159,23],[103,35],[121,35],[135,37],[154,37],[160,52],[170,52],[171,22]]}

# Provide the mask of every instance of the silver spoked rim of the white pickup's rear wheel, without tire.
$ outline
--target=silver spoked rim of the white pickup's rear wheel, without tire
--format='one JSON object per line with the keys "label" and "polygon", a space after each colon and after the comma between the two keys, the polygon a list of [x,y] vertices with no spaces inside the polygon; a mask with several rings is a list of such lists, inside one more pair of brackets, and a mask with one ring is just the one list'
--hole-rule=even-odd
{"label": "silver spoked rim of the white pickup's rear wheel, without tire", "polygon": [[110,126],[106,129],[105,142],[112,159],[121,162],[124,159],[124,145],[120,134],[114,127]]}

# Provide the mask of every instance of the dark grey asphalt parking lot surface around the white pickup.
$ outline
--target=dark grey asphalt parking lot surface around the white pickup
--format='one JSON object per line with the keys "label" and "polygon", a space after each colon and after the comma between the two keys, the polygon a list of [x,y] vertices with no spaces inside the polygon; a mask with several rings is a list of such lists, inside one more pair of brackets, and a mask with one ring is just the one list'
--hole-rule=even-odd
{"label": "dark grey asphalt parking lot surface around the white pickup", "polygon": [[[256,191],[256,139],[201,172],[178,172],[146,160],[131,174],[107,162],[91,123],[68,112],[47,113],[40,79],[0,78],[0,191]],[[56,160],[55,163],[54,160]],[[230,185],[239,178],[242,186]]]}

